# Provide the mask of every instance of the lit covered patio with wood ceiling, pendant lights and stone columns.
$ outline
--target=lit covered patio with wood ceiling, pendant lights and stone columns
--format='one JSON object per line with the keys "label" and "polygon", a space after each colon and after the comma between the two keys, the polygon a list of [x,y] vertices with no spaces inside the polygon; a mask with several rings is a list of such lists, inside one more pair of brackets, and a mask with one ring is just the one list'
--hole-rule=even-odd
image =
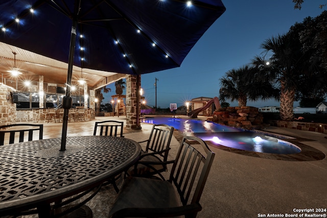
{"label": "lit covered patio with wood ceiling, pendant lights and stone columns", "polygon": [[[16,55],[13,55],[13,52]],[[68,64],[3,42],[0,42],[0,59],[0,72],[2,74],[0,94],[6,96],[6,98],[1,99],[1,123],[8,125],[15,122],[49,122],[51,108],[60,106],[59,104],[64,95],[63,88],[65,88],[67,80]],[[8,72],[8,69],[12,68],[14,62],[16,68],[19,68],[21,72],[16,77],[13,77]],[[73,105],[79,109],[89,110],[86,120],[94,119],[96,106],[95,90],[125,78],[127,84],[127,107],[124,115],[127,115],[129,120],[127,128],[137,129],[139,124],[137,124],[136,111],[138,110],[136,110],[136,107],[139,107],[140,104],[137,106],[135,102],[138,96],[136,81],[140,77],[94,69],[82,69],[81,67],[74,66],[72,85],[76,87],[76,90],[72,91],[72,95],[77,100],[76,104]],[[84,82],[80,83],[81,81]],[[141,86],[141,83],[139,86]],[[19,94],[23,98],[25,96],[27,96],[25,98],[29,98],[30,95],[35,94],[37,99],[34,101],[31,96],[31,106],[19,108],[17,107],[19,102],[17,98],[20,98]],[[53,99],[56,101],[53,102]],[[82,101],[78,101],[79,99],[82,99]],[[51,122],[55,122],[55,120],[51,119]]]}

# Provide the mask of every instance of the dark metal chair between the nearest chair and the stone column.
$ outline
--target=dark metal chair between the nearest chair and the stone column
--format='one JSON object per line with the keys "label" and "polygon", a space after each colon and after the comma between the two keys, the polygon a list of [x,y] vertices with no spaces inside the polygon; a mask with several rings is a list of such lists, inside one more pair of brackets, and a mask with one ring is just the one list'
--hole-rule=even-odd
{"label": "dark metal chair between the nearest chair and the stone column", "polygon": [[149,139],[138,143],[147,142],[141,157],[126,172],[126,176],[156,177],[159,173],[167,171],[167,159],[174,127],[166,124],[154,124]]}

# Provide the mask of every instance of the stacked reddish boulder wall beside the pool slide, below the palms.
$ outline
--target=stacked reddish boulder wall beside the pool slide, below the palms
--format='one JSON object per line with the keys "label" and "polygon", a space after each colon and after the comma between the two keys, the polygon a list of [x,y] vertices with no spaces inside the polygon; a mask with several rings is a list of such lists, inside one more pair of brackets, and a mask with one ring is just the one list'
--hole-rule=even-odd
{"label": "stacked reddish boulder wall beside the pool slide, below the palms", "polygon": [[213,122],[226,126],[253,129],[263,123],[263,115],[256,107],[227,107],[214,111]]}

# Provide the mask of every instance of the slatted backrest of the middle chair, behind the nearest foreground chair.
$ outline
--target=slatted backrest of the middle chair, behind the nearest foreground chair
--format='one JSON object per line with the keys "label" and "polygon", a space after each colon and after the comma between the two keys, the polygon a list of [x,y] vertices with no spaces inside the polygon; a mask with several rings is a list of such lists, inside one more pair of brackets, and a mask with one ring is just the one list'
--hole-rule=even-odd
{"label": "slatted backrest of the middle chair, behind the nearest foreground chair", "polygon": [[[154,124],[147,142],[146,152],[160,152],[168,149],[172,139],[174,127],[166,124]],[[168,152],[160,153],[164,161],[167,161]]]}

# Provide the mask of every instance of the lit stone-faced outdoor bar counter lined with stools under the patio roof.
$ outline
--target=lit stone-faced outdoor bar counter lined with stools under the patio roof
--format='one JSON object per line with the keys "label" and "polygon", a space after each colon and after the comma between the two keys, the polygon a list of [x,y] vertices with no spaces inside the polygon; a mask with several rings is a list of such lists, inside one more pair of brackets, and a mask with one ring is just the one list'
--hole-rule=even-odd
{"label": "lit stone-faced outdoor bar counter lined with stools under the patio roof", "polygon": [[[62,123],[63,109],[33,108],[17,109],[16,122]],[[89,108],[69,109],[69,122],[83,122],[95,119],[95,112]]]}

